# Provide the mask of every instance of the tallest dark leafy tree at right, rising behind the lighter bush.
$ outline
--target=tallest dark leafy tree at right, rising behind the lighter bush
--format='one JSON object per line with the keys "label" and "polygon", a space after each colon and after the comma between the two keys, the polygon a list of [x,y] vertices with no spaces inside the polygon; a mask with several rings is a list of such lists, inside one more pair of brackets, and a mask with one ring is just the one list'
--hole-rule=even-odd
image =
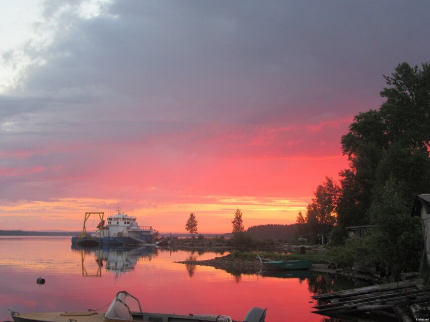
{"label": "tallest dark leafy tree at right, rising behind the lighter bush", "polygon": [[369,224],[371,207],[381,202],[377,191],[390,178],[402,185],[407,204],[430,191],[430,65],[401,63],[384,78],[386,101],[357,115],[341,139],[351,169],[340,172],[340,226]]}

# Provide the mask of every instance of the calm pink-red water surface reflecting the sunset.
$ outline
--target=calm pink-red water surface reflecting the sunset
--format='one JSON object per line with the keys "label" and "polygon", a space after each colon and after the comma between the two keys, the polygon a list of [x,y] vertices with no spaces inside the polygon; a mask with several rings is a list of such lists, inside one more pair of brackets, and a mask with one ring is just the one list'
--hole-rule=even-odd
{"label": "calm pink-red water surface reflecting the sunset", "polygon": [[[0,237],[0,254],[0,321],[11,319],[9,308],[105,311],[113,296],[125,290],[153,312],[226,314],[242,320],[259,306],[268,307],[267,322],[321,322],[324,317],[310,313],[316,305],[311,296],[355,287],[352,281],[315,272],[264,277],[175,263],[220,256],[213,252],[74,249],[70,237]],[[37,285],[39,277],[45,285]]]}

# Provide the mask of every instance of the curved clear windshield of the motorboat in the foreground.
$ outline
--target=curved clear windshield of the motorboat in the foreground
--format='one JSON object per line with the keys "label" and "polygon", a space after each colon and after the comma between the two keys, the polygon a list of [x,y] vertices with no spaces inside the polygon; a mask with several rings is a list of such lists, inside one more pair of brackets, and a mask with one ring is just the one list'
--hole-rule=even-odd
{"label": "curved clear windshield of the motorboat in the foreground", "polygon": [[105,313],[108,319],[133,320],[132,312],[142,312],[139,300],[125,291],[118,292]]}

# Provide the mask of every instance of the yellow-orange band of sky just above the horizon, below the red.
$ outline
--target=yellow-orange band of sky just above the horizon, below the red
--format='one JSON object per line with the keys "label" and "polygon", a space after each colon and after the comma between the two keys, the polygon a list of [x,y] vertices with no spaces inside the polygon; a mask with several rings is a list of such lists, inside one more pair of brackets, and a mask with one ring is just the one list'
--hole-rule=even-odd
{"label": "yellow-orange band of sky just above the horizon, below the red", "polygon": [[[198,220],[200,234],[224,234],[231,232],[231,220],[239,208],[243,213],[245,227],[259,224],[290,224],[295,222],[298,211],[305,211],[310,198],[283,200],[275,198],[229,198],[225,196],[209,199],[212,203],[159,204],[147,209],[121,206],[121,211],[137,217],[140,225],[151,225],[160,233],[184,233],[190,212]],[[217,200],[215,200],[217,199]],[[216,201],[216,202],[215,202]],[[104,211],[105,217],[115,212],[117,203],[97,199],[61,199],[51,202],[20,202],[16,205],[1,206],[2,216],[14,218],[5,220],[3,229],[23,231],[73,231],[82,229],[85,212]],[[95,229],[87,221],[87,229]],[[31,223],[31,224],[30,224]],[[98,222],[95,222],[97,225]]]}

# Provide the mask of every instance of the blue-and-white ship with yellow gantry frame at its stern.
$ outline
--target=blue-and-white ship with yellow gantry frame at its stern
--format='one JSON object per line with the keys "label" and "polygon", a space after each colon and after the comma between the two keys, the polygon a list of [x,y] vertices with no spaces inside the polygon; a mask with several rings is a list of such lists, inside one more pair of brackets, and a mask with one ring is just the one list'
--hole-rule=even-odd
{"label": "blue-and-white ship with yellow gantry frame at its stern", "polygon": [[[87,233],[85,223],[91,215],[99,215],[97,231]],[[117,208],[117,213],[106,221],[104,212],[85,212],[82,233],[72,237],[72,244],[81,246],[130,246],[152,243],[158,232],[152,226],[139,226],[136,217],[128,216]]]}

